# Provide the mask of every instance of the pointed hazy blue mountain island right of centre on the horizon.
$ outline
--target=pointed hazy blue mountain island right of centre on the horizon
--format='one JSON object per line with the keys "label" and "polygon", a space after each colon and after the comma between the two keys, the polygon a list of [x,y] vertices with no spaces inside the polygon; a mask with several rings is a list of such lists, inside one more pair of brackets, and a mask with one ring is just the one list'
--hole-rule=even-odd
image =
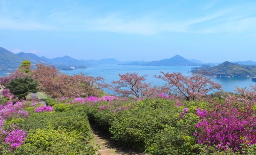
{"label": "pointed hazy blue mountain island right of centre on the horizon", "polygon": [[143,63],[145,66],[202,66],[200,63],[191,62],[180,55],[175,55],[170,59],[163,59],[159,61],[151,61],[149,63]]}

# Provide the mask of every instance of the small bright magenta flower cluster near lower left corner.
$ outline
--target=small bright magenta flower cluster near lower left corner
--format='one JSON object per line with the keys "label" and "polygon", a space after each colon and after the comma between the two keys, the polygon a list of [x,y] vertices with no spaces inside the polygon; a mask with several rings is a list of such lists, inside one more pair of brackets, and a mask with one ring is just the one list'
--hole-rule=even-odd
{"label": "small bright magenta flower cluster near lower left corner", "polygon": [[11,128],[9,129],[9,131],[3,131],[3,133],[7,135],[7,137],[5,138],[5,142],[10,144],[11,150],[13,150],[16,147],[24,144],[22,143],[22,141],[25,140],[26,132],[20,129],[19,126],[17,128],[15,128],[13,124],[10,126]]}

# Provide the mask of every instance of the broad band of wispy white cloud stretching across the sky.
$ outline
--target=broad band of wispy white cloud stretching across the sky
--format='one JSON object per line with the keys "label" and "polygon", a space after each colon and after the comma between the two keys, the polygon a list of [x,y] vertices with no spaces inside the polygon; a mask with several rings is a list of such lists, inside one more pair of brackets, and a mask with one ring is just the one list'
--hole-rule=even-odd
{"label": "broad band of wispy white cloud stretching across the sky", "polygon": [[[0,16],[0,30],[44,30],[44,31],[107,31],[116,33],[155,35],[165,32],[185,33],[221,33],[221,32],[256,32],[256,14],[251,14],[255,3],[244,6],[214,8],[213,1],[195,16],[182,14],[177,18],[168,15],[178,12],[163,12],[154,14],[122,14],[116,12],[84,11],[81,8],[70,10],[51,10],[42,17],[23,15]],[[248,9],[249,8],[249,9]],[[200,12],[202,11],[202,13]],[[2,12],[4,14],[5,12]],[[10,14],[10,12],[8,13]],[[40,14],[37,12],[37,14]],[[163,15],[163,16],[162,16]],[[42,18],[42,19],[41,19]]]}

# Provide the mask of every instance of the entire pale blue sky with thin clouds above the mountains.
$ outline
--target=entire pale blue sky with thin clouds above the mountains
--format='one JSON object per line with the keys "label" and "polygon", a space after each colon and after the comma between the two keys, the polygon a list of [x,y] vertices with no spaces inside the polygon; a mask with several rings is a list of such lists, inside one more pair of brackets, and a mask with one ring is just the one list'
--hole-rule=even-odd
{"label": "entire pale blue sky with thin clouds above the mountains", "polygon": [[0,47],[48,58],[256,61],[255,0],[0,0]]}

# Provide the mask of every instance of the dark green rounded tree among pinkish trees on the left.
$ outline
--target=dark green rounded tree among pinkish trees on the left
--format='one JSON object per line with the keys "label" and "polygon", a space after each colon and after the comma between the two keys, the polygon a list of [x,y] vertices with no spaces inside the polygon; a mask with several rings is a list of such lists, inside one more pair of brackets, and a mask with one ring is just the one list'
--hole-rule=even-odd
{"label": "dark green rounded tree among pinkish trees on the left", "polygon": [[12,94],[19,99],[24,98],[24,100],[26,100],[28,93],[37,92],[38,86],[38,81],[28,76],[15,78],[7,84],[7,88],[10,89]]}

